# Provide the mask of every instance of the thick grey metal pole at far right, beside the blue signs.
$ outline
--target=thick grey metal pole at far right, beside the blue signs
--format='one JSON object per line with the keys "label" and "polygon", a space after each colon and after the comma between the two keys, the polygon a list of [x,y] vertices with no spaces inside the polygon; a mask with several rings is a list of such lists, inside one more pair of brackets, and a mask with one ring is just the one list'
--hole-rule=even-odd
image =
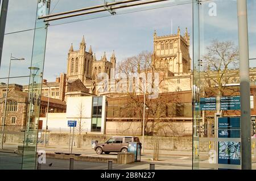
{"label": "thick grey metal pole at far right, beside the blue signs", "polygon": [[251,112],[249,45],[246,0],[237,0],[241,94],[241,162],[242,170],[251,170]]}

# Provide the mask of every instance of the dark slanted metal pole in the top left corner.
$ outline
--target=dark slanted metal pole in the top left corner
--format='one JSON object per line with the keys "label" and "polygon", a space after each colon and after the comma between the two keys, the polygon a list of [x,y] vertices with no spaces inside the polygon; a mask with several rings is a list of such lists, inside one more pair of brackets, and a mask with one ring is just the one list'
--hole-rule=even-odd
{"label": "dark slanted metal pole in the top left corner", "polygon": [[3,51],[3,39],[5,38],[5,24],[6,24],[8,3],[9,3],[9,0],[3,0],[2,1],[2,8],[1,8],[1,16],[0,16],[0,67],[1,67],[2,51]]}

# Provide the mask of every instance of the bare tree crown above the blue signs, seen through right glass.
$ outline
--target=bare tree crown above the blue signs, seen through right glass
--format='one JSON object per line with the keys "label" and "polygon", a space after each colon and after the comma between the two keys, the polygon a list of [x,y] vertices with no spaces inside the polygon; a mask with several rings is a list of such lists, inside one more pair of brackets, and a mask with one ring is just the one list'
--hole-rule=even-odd
{"label": "bare tree crown above the blue signs, seen through right glass", "polygon": [[[203,57],[203,82],[200,83],[203,96],[224,96],[234,89],[227,86],[236,83],[239,74],[238,48],[232,41],[213,40]],[[235,80],[232,82],[232,79]]]}

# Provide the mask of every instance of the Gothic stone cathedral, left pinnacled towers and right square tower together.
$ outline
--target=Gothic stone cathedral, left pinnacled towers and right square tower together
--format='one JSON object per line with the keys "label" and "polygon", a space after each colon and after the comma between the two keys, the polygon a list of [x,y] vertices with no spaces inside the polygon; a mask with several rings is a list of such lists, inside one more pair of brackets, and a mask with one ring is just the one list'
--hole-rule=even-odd
{"label": "Gothic stone cathedral, left pinnacled towers and right square tower together", "polygon": [[[159,81],[159,93],[191,91],[190,37],[187,28],[184,35],[181,35],[178,28],[174,35],[158,36],[155,31],[152,37],[154,49],[151,63],[162,76],[162,80]],[[65,101],[67,96],[115,94],[117,82],[115,79],[110,79],[114,74],[110,69],[115,69],[116,63],[114,50],[109,58],[104,52],[103,56],[97,59],[91,46],[87,50],[83,36],[78,50],[74,50],[72,44],[68,50],[67,73],[61,73],[60,77],[56,78],[56,82],[48,82],[48,85],[54,85],[52,90],[56,91],[50,96]],[[107,83],[102,83],[102,79],[98,76],[100,73],[108,74]],[[48,87],[45,85],[42,87],[42,95],[48,95]]]}

